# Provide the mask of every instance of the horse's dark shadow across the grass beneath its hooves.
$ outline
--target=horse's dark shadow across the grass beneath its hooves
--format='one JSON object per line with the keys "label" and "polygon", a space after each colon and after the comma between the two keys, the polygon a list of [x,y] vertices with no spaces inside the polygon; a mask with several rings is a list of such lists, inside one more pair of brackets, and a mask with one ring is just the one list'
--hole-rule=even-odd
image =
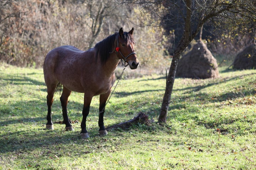
{"label": "horse's dark shadow across the grass beneath its hooves", "polygon": [[[31,120],[35,119],[27,119],[27,121],[31,122]],[[42,118],[40,118],[42,119]],[[65,131],[65,125],[57,125],[54,124],[54,130],[46,130],[45,125],[38,127],[33,126],[33,124],[25,124],[24,128],[18,128],[16,130],[9,130],[8,132],[1,133],[0,135],[0,153],[11,153],[14,154],[22,154],[22,153],[30,153],[30,151],[40,150],[41,155],[47,154],[50,155],[51,152],[55,152],[56,146],[59,148],[67,148],[67,152],[72,152],[73,145],[81,146],[79,152],[85,150],[94,150],[99,146],[99,143],[105,141],[106,138],[110,137],[124,137],[127,136],[128,129],[114,129],[110,130],[109,134],[105,137],[100,136],[98,134],[98,127],[95,126],[93,128],[88,128],[90,138],[84,140],[80,136],[80,124],[73,124],[75,131]],[[30,128],[33,126],[33,128]],[[141,129],[142,125],[134,125],[131,126],[131,129]],[[151,129],[151,127],[143,127],[143,129]],[[126,134],[124,134],[126,133]],[[129,136],[129,134],[128,134]],[[66,145],[66,146],[64,146]],[[88,147],[87,147],[88,146]],[[75,146],[77,148],[77,146]],[[47,153],[46,153],[47,152]],[[90,151],[88,151],[90,153]],[[53,154],[54,155],[54,154]]]}

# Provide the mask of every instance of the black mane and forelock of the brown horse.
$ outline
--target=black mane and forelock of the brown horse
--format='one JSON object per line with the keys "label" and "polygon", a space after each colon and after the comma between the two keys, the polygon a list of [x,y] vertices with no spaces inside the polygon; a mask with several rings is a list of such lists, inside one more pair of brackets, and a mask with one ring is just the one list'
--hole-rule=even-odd
{"label": "black mane and forelock of the brown horse", "polygon": [[[102,41],[98,42],[94,48],[96,49],[96,61],[97,58],[100,57],[101,63],[105,64],[110,57],[110,54],[113,52],[114,48],[117,47],[116,37],[119,33],[115,32],[114,34],[108,36]],[[131,34],[124,32],[123,38],[126,40],[127,44],[134,42],[133,36]]]}

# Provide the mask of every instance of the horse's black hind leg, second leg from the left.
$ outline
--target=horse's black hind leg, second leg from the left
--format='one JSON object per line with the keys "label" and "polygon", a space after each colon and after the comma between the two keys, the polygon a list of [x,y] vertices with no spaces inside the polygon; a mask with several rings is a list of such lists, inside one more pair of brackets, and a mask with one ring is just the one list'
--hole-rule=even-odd
{"label": "horse's black hind leg, second leg from the left", "polygon": [[60,96],[60,102],[62,105],[63,121],[66,125],[65,127],[66,131],[74,131],[72,125],[69,122],[68,111],[67,111],[68,97],[70,96],[70,94],[71,94],[71,91],[63,87],[63,92],[62,92],[62,95]]}

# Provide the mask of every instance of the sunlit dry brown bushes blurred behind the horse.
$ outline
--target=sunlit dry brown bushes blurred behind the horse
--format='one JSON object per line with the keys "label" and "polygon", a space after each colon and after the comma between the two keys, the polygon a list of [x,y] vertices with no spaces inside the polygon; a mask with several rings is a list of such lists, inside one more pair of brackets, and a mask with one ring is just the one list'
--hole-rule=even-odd
{"label": "sunlit dry brown bushes blurred behind the horse", "polygon": [[[4,4],[5,3],[5,4]],[[135,50],[141,66],[158,69],[165,64],[164,36],[160,28],[137,27],[138,16],[143,14],[133,8],[119,5],[111,10],[108,4],[89,9],[89,1],[6,1],[0,2],[0,60],[22,67],[42,67],[44,57],[54,47],[74,45],[81,50],[90,47],[91,40],[102,40],[120,27],[135,31]],[[96,3],[96,1],[95,1]],[[91,7],[91,6],[90,6]],[[105,12],[102,12],[105,7]],[[112,6],[113,7],[113,6]],[[102,12],[103,24],[99,27],[92,13]],[[129,17],[128,17],[129,16]],[[92,26],[100,28],[94,34]],[[94,36],[94,37],[92,37]],[[169,64],[167,64],[168,66]]]}

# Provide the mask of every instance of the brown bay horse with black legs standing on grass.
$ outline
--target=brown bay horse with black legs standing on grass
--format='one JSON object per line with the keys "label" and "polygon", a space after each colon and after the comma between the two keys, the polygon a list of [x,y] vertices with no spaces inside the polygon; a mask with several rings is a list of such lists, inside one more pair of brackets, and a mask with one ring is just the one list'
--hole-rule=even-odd
{"label": "brown bay horse with black legs standing on grass", "polygon": [[[92,97],[100,95],[99,134],[107,135],[103,122],[106,101],[116,81],[115,69],[120,62],[130,69],[139,66],[134,51],[133,28],[129,32],[119,32],[98,42],[93,48],[81,51],[74,46],[60,46],[50,51],[44,60],[43,72],[47,86],[47,124],[46,129],[53,130],[52,103],[55,91],[63,86],[60,102],[62,105],[63,122],[67,131],[74,131],[67,113],[68,97],[71,91],[84,93],[82,109],[81,137],[88,138],[86,117],[90,111]],[[125,65],[127,63],[127,65]]]}

